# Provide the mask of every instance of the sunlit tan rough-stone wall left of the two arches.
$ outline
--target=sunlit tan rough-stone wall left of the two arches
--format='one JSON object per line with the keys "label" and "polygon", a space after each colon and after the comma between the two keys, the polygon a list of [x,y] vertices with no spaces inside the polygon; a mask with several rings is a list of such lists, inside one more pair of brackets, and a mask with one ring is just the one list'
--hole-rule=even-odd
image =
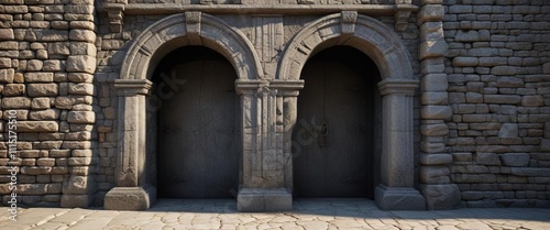
{"label": "sunlit tan rough-stone wall left of the two arches", "polygon": [[0,195],[7,204],[18,166],[20,204],[92,202],[97,134],[94,1],[0,1],[0,131],[16,111],[16,160],[0,142]]}

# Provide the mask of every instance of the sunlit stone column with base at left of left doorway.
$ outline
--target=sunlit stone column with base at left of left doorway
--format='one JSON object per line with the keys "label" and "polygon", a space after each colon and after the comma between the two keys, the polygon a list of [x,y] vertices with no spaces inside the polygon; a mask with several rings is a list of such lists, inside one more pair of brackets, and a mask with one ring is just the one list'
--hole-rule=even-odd
{"label": "sunlit stone column with base at left of left doorway", "polygon": [[152,83],[147,79],[118,79],[114,88],[119,95],[118,154],[116,184],[107,193],[105,209],[108,210],[146,210],[156,199],[156,188],[140,184],[146,157],[145,96]]}

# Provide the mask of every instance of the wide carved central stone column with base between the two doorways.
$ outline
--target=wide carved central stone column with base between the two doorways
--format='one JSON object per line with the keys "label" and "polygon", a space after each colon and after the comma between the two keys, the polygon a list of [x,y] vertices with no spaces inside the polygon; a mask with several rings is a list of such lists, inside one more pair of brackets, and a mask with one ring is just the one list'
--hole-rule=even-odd
{"label": "wide carved central stone column with base between the two doorways", "polygon": [[286,158],[283,108],[286,89],[270,87],[267,80],[237,80],[241,95],[243,134],[242,186],[239,211],[283,211],[293,208],[285,188]]}

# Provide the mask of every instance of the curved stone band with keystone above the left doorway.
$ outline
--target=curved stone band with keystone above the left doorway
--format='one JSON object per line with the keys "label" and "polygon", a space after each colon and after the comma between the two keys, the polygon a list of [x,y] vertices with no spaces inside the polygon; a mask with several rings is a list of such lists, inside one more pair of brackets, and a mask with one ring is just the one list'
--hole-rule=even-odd
{"label": "curved stone band with keystone above the left doorway", "polygon": [[204,45],[219,52],[233,65],[239,79],[263,76],[260,58],[246,35],[213,15],[186,12],[155,22],[135,39],[122,63],[121,79],[150,78],[151,66],[185,45]]}

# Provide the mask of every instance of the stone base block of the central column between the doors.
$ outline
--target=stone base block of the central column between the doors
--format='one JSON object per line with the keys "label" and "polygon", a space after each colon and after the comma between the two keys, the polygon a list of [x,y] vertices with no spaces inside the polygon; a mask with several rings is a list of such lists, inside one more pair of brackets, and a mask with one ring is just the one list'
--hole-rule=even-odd
{"label": "stone base block of the central column between the doors", "polygon": [[242,188],[237,196],[238,211],[289,211],[293,195],[285,188]]}

